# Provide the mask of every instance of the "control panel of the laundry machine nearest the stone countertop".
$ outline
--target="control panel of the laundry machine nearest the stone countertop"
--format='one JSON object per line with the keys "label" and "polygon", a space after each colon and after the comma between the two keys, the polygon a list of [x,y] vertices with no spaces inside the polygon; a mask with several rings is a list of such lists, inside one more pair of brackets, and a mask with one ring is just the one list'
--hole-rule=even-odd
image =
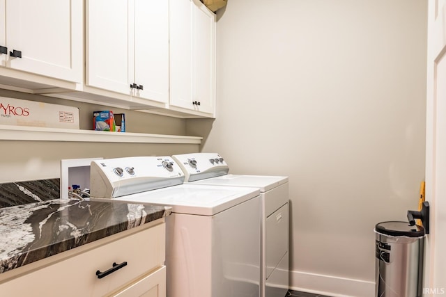
{"label": "control panel of the laundry machine nearest the stone countertop", "polygon": [[92,197],[114,198],[183,184],[184,173],[170,156],[133,156],[91,162]]}

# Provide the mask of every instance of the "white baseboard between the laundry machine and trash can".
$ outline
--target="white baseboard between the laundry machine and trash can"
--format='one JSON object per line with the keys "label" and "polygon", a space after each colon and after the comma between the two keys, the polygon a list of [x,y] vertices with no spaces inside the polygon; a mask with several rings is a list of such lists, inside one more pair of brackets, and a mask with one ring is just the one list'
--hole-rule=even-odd
{"label": "white baseboard between the laundry machine and trash can", "polygon": [[290,289],[332,297],[374,297],[375,282],[290,271]]}

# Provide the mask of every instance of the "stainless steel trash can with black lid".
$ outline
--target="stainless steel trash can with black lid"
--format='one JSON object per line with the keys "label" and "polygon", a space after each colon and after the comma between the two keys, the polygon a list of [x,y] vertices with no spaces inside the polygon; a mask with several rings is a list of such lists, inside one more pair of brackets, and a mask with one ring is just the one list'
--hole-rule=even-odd
{"label": "stainless steel trash can with black lid", "polygon": [[376,297],[421,297],[424,228],[383,222],[376,232]]}

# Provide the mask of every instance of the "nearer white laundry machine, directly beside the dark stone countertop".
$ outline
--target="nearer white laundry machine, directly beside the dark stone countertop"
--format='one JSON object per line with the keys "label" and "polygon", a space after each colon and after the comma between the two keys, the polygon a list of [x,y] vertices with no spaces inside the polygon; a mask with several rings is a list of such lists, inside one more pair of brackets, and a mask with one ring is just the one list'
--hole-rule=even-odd
{"label": "nearer white laundry machine, directly beside the dark stone countertop", "polygon": [[166,218],[167,296],[259,296],[259,189],[183,180],[169,156],[96,160],[91,199],[172,207]]}

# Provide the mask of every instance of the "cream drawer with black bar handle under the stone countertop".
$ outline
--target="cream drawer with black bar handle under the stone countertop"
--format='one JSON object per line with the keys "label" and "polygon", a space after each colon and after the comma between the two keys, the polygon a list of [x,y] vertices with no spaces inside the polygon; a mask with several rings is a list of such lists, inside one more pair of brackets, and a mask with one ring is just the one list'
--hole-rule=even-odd
{"label": "cream drawer with black bar handle under the stone countertop", "polygon": [[[0,285],[5,296],[104,296],[164,265],[165,224],[141,230]],[[127,265],[98,279],[96,271]]]}

